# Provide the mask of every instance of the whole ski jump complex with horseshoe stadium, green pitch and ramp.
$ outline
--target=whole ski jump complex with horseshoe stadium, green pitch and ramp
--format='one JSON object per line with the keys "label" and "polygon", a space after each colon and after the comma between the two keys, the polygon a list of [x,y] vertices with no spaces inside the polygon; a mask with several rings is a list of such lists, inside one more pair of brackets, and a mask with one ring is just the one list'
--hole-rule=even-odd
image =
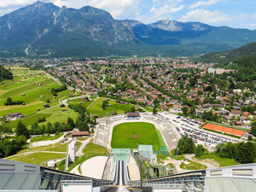
{"label": "whole ski jump complex with horseshoe stadium, green pitch and ramp", "polygon": [[[165,176],[155,175],[152,170],[159,166],[154,152],[168,153],[176,148],[180,137],[176,125],[163,115],[128,113],[100,119],[94,143],[108,148],[111,153],[103,159],[96,157],[85,161],[81,169],[89,175],[0,160],[0,191],[256,190],[255,164],[172,172]],[[67,148],[71,143],[67,144]],[[140,172],[138,165],[141,165],[143,172]],[[149,172],[145,172],[147,168]],[[96,172],[101,174],[95,174]]]}

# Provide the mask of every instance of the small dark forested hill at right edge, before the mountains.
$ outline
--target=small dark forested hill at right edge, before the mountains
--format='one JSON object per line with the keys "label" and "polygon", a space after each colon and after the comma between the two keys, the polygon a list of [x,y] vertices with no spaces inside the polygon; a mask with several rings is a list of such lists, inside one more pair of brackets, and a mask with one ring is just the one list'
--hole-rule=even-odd
{"label": "small dark forested hill at right edge, before the mountains", "polygon": [[202,55],[199,61],[204,62],[222,62],[222,61],[234,61],[236,59],[248,56],[256,55],[256,42],[246,44],[237,49],[231,49],[228,51],[218,51]]}

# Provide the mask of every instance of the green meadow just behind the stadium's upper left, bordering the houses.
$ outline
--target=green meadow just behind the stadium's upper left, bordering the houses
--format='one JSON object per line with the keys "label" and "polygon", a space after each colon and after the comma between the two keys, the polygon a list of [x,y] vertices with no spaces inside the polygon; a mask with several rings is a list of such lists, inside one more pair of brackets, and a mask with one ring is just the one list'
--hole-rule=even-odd
{"label": "green meadow just behind the stadium's upper left, bordering the houses", "polygon": [[108,104],[111,104],[112,106],[107,107],[105,110],[103,110],[101,106],[104,100],[107,100],[107,98],[97,98],[96,101],[90,105],[90,108],[88,108],[88,111],[92,114],[97,114],[99,117],[103,117],[106,115],[106,113],[112,113],[113,111],[115,111],[118,114],[124,114],[125,111],[130,110],[131,108],[134,107],[131,104],[122,105],[110,99],[108,101]]}

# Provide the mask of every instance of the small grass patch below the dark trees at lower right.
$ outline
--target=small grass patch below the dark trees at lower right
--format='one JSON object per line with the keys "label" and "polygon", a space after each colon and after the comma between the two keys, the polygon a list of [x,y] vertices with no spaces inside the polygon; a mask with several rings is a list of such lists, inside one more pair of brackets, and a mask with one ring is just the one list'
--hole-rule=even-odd
{"label": "small grass patch below the dark trees at lower right", "polygon": [[235,166],[236,160],[229,158],[221,158],[214,154],[203,154],[201,157],[192,157],[193,160],[205,161],[205,162],[217,162],[219,166]]}

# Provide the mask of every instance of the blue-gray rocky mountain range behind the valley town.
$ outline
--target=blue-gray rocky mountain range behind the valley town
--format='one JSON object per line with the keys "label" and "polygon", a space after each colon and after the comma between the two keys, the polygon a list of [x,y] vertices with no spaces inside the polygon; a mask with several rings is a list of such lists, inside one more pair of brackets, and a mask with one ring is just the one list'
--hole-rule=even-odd
{"label": "blue-gray rocky mountain range behind the valley town", "polygon": [[114,20],[102,9],[36,2],[0,17],[0,56],[200,55],[256,41],[256,31],[200,22]]}

